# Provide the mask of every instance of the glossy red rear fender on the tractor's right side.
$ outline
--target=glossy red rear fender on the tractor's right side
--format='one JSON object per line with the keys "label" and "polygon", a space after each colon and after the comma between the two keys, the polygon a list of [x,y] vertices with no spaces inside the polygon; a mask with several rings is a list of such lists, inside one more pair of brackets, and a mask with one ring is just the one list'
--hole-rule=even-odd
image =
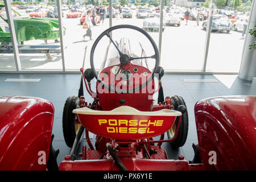
{"label": "glossy red rear fender on the tractor's right side", "polygon": [[[201,100],[195,105],[195,117],[207,169],[256,169],[256,96]],[[210,151],[216,152],[216,165],[209,164]]]}

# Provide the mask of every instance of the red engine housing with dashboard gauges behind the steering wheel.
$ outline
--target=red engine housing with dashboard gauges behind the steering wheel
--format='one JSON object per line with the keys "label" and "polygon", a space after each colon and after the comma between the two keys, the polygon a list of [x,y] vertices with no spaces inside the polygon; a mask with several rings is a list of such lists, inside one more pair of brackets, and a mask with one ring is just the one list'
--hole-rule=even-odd
{"label": "red engine housing with dashboard gauges behind the steering wheel", "polygon": [[[111,71],[114,66],[116,65],[103,69],[99,75],[106,84],[110,84],[114,80],[115,75]],[[137,68],[138,72],[132,72],[134,68]],[[121,90],[124,89],[122,88],[122,82],[127,83],[125,89],[134,89],[137,88],[139,85],[144,84],[147,81],[148,77],[151,76],[151,72],[147,68],[140,65],[127,64],[122,68],[121,72],[124,69],[129,69],[132,76],[129,78],[129,80],[122,80],[120,74],[117,75],[115,79],[115,88],[119,88]],[[147,73],[147,76],[144,77],[143,73]],[[105,81],[104,78],[108,78],[108,81]],[[153,79],[148,83],[147,86],[145,86],[138,92],[114,93],[97,82],[96,89],[98,94],[98,100],[100,101],[100,106],[102,107],[102,110],[112,110],[118,106],[121,106],[119,100],[123,99],[125,100],[125,104],[123,105],[131,106],[141,111],[149,111],[153,102],[155,85]]]}

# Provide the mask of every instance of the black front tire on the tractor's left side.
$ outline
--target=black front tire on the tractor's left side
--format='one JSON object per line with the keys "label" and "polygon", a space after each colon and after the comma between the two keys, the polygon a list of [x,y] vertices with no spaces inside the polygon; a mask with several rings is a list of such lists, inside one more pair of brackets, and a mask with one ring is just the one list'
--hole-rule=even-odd
{"label": "black front tire on the tractor's left side", "polygon": [[76,115],[72,113],[72,111],[79,105],[80,99],[76,96],[68,97],[64,105],[62,127],[64,139],[68,147],[73,146],[74,140],[76,138]]}

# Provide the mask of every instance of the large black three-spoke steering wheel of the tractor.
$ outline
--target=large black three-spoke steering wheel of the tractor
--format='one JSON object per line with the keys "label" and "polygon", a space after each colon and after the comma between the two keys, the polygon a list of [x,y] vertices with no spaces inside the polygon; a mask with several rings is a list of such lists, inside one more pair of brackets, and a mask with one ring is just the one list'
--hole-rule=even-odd
{"label": "large black three-spoke steering wheel of the tractor", "polygon": [[[126,55],[126,54],[122,53],[118,49],[118,47],[115,44],[115,42],[112,39],[112,37],[110,36],[110,32],[111,31],[117,30],[117,29],[121,29],[121,28],[130,28],[132,30],[137,30],[137,31],[141,32],[150,41],[152,47],[154,48],[155,54],[152,55],[152,56],[147,56],[147,57],[130,57],[129,55]],[[120,64],[119,64],[119,69],[118,69],[117,73],[115,74],[115,78],[117,77],[117,75],[121,71],[121,68],[123,67],[123,65],[129,64],[130,61],[132,61],[132,60],[135,60],[135,59],[147,59],[147,58],[155,59],[155,67],[154,67],[154,69],[153,69],[153,71],[151,73],[151,76],[147,79],[146,82],[144,82],[143,84],[139,85],[137,88],[133,88],[133,89],[127,90],[127,92],[126,92],[125,90],[119,90],[119,89],[113,88],[113,82],[115,82],[115,78],[112,81],[112,83],[109,84],[109,85],[101,80],[101,78],[98,76],[98,74],[96,72],[96,69],[94,68],[93,57],[94,57],[94,51],[96,49],[96,46],[97,46],[98,42],[100,42],[101,38],[103,38],[105,35],[108,36],[108,38],[114,44],[114,47],[117,49],[117,51],[119,53],[119,62],[120,62]],[[154,40],[151,38],[151,36],[146,31],[142,30],[139,27],[132,26],[132,25],[129,25],[129,24],[121,24],[121,25],[118,25],[118,26],[110,27],[107,30],[105,30],[104,32],[102,32],[102,34],[100,36],[98,36],[98,38],[93,43],[92,50],[90,51],[90,67],[92,69],[94,77],[97,79],[98,82],[100,82],[101,85],[103,85],[106,89],[109,89],[112,92],[117,92],[117,93],[134,93],[134,92],[137,92],[138,90],[141,90],[142,88],[147,86],[152,81],[152,79],[154,78],[155,72],[158,70],[158,66],[159,66],[159,52],[158,52],[158,47],[156,47],[156,44],[155,44]]]}

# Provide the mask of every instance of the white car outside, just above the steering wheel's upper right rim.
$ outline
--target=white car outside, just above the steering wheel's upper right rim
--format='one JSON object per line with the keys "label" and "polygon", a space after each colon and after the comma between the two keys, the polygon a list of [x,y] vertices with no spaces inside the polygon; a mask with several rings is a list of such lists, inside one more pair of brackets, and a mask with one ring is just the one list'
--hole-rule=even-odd
{"label": "white car outside, just above the steering wheel's upper right rim", "polygon": [[[143,22],[143,30],[147,32],[159,32],[160,28],[160,15],[157,13],[150,13],[147,15]],[[163,31],[166,28],[166,22],[163,22]]]}

